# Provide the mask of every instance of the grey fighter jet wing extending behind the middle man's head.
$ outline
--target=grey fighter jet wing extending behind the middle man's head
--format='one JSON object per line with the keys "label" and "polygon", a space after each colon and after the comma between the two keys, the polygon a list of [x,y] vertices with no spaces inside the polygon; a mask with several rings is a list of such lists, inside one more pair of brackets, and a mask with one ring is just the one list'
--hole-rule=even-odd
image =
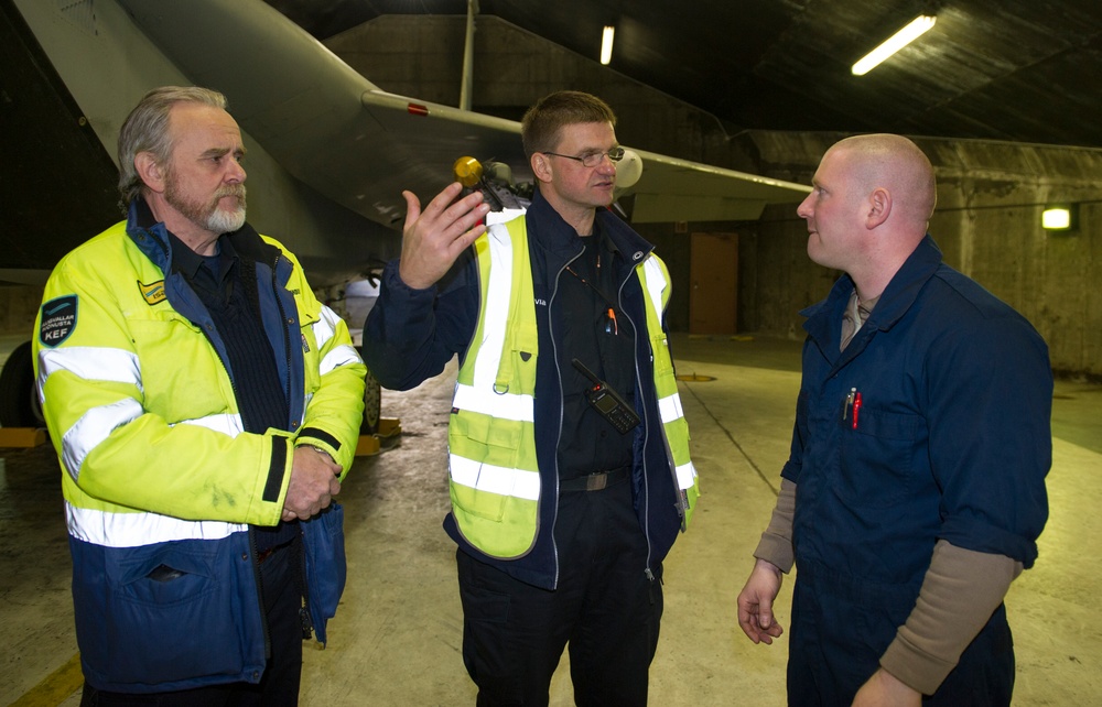
{"label": "grey fighter jet wing extending behind the middle man's head", "polygon": [[[464,155],[531,178],[516,121],[382,91],[260,0],[119,2],[188,78],[229,97],[242,129],[288,172],[374,221],[400,227],[402,189],[431,197]],[[637,221],[754,219],[808,191],[635,152]]]}

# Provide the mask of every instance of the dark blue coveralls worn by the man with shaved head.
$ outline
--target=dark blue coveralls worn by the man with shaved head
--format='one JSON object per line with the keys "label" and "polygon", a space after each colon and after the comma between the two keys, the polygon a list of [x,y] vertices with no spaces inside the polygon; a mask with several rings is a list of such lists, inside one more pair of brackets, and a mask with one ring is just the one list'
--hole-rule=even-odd
{"label": "dark blue coveralls worn by the man with shaved head", "polygon": [[[842,276],[801,314],[790,705],[850,705],[915,607],[938,540],[1030,567],[1048,516],[1052,373],[1030,324],[927,236],[839,350]],[[854,424],[856,394],[861,405]],[[1001,606],[927,704],[1008,704]]]}

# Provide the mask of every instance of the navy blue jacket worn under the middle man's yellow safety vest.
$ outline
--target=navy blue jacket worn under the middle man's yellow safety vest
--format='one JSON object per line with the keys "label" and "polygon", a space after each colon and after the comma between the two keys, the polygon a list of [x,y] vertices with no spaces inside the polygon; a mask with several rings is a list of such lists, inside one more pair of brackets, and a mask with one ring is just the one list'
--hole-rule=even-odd
{"label": "navy blue jacket worn under the middle man's yellow safety vest", "polygon": [[[509,575],[552,589],[559,576],[553,532],[558,510],[555,449],[562,432],[562,383],[570,356],[559,350],[557,331],[562,330],[562,309],[557,306],[559,280],[568,263],[581,254],[574,251],[575,232],[536,193],[528,209],[528,241],[532,262],[539,350],[536,373],[536,452],[540,468],[539,533],[523,557],[497,561],[471,546],[460,535],[449,513],[444,529],[460,547]],[[625,260],[616,259],[618,304],[636,331],[636,407],[644,424],[636,429],[633,482],[639,524],[647,534],[650,558],[645,569],[657,570],[678,531],[682,529],[677,508],[679,493],[665,448],[661,417],[655,392],[650,342],[639,333],[647,330],[645,294],[634,275],[652,246],[614,214],[598,209],[597,228],[608,233]],[[456,354],[461,360],[474,336],[478,319],[477,264],[468,249],[436,287],[412,290],[398,276],[398,261],[383,271],[379,298],[364,328],[364,360],[379,382],[391,389],[408,390],[440,373]],[[663,320],[665,327],[665,320]]]}

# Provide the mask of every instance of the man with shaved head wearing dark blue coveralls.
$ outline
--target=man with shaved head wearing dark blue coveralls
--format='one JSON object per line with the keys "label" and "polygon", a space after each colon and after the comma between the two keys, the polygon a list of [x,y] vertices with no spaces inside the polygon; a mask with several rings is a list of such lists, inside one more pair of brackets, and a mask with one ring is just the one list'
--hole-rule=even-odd
{"label": "man with shaved head wearing dark blue coveralls", "polygon": [[845,274],[802,312],[791,456],[739,626],[781,634],[773,602],[795,562],[790,705],[1008,705],[1003,597],[1048,516],[1048,349],[942,263],[915,143],[843,140],[813,186],[808,254]]}

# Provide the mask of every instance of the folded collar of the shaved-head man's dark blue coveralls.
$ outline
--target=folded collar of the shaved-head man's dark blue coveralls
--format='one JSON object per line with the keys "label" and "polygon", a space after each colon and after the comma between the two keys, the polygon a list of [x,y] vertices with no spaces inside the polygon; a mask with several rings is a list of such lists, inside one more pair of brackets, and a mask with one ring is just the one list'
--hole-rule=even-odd
{"label": "folded collar of the shaved-head man's dark blue coveralls", "polygon": [[[940,267],[941,249],[927,235],[904,261],[899,272],[888,282],[884,294],[880,295],[872,314],[868,315],[868,320],[861,327],[854,341],[846,347],[846,351],[853,349],[855,354],[861,348],[855,345],[858,345],[858,339],[863,340],[868,336],[866,329],[868,331],[873,329],[887,331],[895,326],[915,304],[919,292]],[[808,317],[808,320],[803,323],[808,335],[815,340],[820,349],[833,351],[834,356],[838,356],[838,341],[841,337],[842,309],[845,308],[852,292],[853,280],[850,279],[850,275],[843,274],[831,287],[825,300],[800,312],[802,316]],[[862,335],[863,331],[864,335]],[[833,342],[833,349],[831,349],[831,342]]]}

